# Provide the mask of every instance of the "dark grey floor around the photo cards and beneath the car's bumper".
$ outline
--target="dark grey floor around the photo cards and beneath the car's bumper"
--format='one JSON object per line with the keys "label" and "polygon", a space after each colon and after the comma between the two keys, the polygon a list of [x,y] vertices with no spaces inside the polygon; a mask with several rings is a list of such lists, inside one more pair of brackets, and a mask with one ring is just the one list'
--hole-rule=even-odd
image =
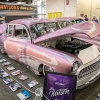
{"label": "dark grey floor around the photo cards and beneath the car's bumper", "polygon": [[[36,79],[40,84],[31,88],[31,91],[35,91],[36,88],[39,88],[41,86],[43,86],[43,82],[44,82],[44,78],[43,76],[37,76],[34,73],[32,73],[31,71],[29,71],[25,66],[23,66],[22,64],[10,59],[7,55],[2,55],[0,53],[1,56],[3,56],[3,58],[5,58],[7,61],[10,61],[12,63],[12,65],[16,68],[22,71],[23,74],[27,75],[29,77],[29,79],[25,80],[25,81],[20,81],[17,76],[14,76],[14,78],[19,81],[21,84],[23,84],[24,86],[27,87],[27,83]],[[11,71],[8,71],[6,68],[7,67],[3,67],[0,63],[0,67],[2,67],[6,72],[8,72],[9,74],[11,74]],[[12,83],[11,83],[12,84]],[[20,90],[16,91],[16,92],[12,92],[10,90],[10,88],[8,87],[10,84],[6,85],[2,79],[0,79],[0,100],[20,100],[16,94],[21,92],[21,90],[25,89],[24,87],[22,87]],[[28,88],[28,87],[27,87]],[[29,89],[29,88],[28,88]],[[76,92],[76,99],[75,100],[95,100],[98,92],[100,92],[100,78],[94,82],[93,84],[89,85],[88,87],[79,90]],[[28,100],[33,100],[35,98],[34,94],[31,93],[31,97]]]}

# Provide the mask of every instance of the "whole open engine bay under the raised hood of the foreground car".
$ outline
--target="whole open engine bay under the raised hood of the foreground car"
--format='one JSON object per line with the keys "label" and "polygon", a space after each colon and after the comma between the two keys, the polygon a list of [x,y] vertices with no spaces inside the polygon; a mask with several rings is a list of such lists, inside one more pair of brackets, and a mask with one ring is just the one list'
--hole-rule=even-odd
{"label": "whole open engine bay under the raised hood of the foreground car", "polygon": [[46,48],[61,50],[64,52],[71,53],[73,55],[78,55],[81,50],[92,46],[92,44],[73,38],[72,36],[52,39],[39,43],[38,45],[41,45]]}

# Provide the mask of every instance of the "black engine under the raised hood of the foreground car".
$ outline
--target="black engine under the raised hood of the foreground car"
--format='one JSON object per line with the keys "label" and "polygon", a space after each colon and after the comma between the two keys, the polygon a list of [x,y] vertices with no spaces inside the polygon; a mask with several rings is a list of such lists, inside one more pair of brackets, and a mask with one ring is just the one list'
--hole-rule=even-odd
{"label": "black engine under the raised hood of the foreground car", "polygon": [[73,37],[68,37],[66,39],[57,40],[55,48],[74,55],[78,55],[81,50],[88,48],[90,46],[91,44],[87,42],[78,40]]}

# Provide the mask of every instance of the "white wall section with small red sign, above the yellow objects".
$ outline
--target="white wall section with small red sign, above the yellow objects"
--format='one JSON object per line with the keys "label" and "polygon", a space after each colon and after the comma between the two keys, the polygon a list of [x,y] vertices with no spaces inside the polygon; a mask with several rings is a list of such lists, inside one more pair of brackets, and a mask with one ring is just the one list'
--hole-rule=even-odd
{"label": "white wall section with small red sign, above the yellow objects", "polygon": [[62,12],[63,17],[76,16],[76,1],[69,0],[69,5],[66,5],[66,0],[46,0],[46,14],[51,12]]}

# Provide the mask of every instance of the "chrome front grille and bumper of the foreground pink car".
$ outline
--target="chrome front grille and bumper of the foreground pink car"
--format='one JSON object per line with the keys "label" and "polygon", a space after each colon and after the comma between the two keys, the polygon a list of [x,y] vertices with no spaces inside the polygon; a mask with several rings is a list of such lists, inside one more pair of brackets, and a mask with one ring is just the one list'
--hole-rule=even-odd
{"label": "chrome front grille and bumper of the foreground pink car", "polygon": [[100,77],[100,56],[82,65],[75,75],[77,75],[77,89],[82,89],[96,81]]}

